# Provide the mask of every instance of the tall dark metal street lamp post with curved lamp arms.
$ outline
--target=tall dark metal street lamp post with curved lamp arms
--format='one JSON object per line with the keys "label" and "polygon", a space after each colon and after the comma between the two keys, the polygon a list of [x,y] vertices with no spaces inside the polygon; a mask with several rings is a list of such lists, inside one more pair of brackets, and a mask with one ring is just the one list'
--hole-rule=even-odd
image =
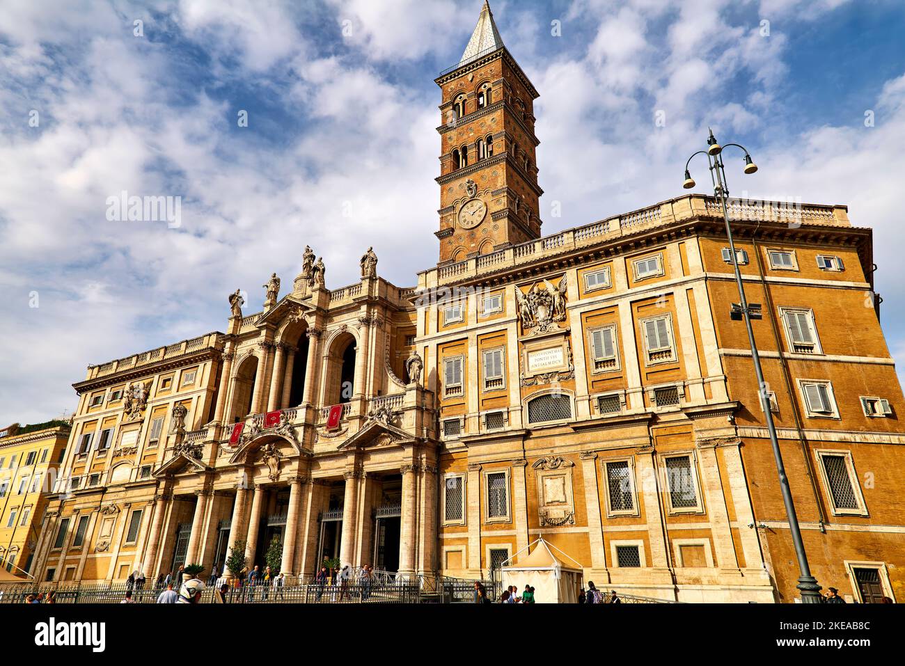
{"label": "tall dark metal street lamp post with curved lamp arms", "polygon": [[[739,313],[742,319],[745,319],[745,327],[748,328],[748,345],[751,347],[751,358],[754,361],[754,372],[757,375],[757,395],[760,397],[760,406],[767,417],[767,433],[770,435],[770,444],[773,447],[773,457],[776,460],[776,473],[779,476],[779,488],[783,493],[783,504],[786,505],[786,518],[789,521],[789,531],[792,533],[792,542],[795,545],[795,556],[798,558],[798,585],[796,587],[801,592],[801,600],[804,604],[820,604],[823,598],[820,595],[820,585],[811,575],[811,567],[807,564],[807,555],[805,554],[805,544],[801,538],[801,528],[798,525],[798,517],[795,513],[795,502],[792,499],[792,491],[789,490],[789,480],[786,476],[786,467],[783,464],[783,454],[779,450],[779,441],[776,439],[776,425],[773,423],[773,413],[770,411],[770,400],[767,394],[767,383],[764,381],[764,371],[760,366],[760,355],[757,353],[757,343],[754,340],[754,328],[751,328],[751,319],[760,319],[760,307],[756,304],[748,305],[748,299],[745,297],[745,287],[741,281],[741,272],[738,271],[738,257],[736,255],[735,243],[732,240],[732,227],[729,224],[729,210],[726,207],[726,198],[729,196],[729,188],[726,184],[726,170],[723,166],[722,150],[714,138],[712,130],[710,137],[707,139],[707,150],[699,150],[697,153],[688,158],[685,163],[685,182],[683,187],[691,189],[695,186],[694,180],[688,166],[691,159],[701,153],[707,155],[710,163],[710,178],[713,181],[715,195],[719,198],[720,207],[723,211],[723,220],[726,222],[726,235],[729,238],[729,253],[732,256],[732,268],[735,271],[736,284],[738,285],[738,298],[740,304],[733,305],[732,314],[737,316]],[[726,147],[735,146],[741,148],[745,152],[745,173],[753,174],[757,171],[757,165],[751,160],[748,150],[737,143],[727,144]]]}

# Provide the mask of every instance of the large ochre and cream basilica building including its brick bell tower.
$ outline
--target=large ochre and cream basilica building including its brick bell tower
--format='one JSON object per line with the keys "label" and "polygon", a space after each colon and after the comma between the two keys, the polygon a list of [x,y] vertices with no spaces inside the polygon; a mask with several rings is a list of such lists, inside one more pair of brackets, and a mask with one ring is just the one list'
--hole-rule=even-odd
{"label": "large ochre and cream basilica building including its brick bell tower", "polygon": [[[538,91],[486,3],[436,82],[439,262],[398,287],[368,250],[329,289],[306,248],[262,311],[230,296],[224,332],[89,366],[35,576],[222,571],[276,543],[291,580],[329,558],[486,578],[542,536],[626,594],[795,598],[719,203],[543,235]],[[843,205],[729,215],[814,575],[899,600],[905,401],[872,232]]]}

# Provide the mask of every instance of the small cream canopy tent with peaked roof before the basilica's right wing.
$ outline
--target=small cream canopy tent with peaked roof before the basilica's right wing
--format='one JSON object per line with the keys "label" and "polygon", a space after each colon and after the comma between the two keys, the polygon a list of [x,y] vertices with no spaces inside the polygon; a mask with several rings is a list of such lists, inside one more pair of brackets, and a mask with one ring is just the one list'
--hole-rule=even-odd
{"label": "small cream canopy tent with peaked roof before the basilica's right wing", "polygon": [[[535,545],[537,547],[531,552],[530,548]],[[554,555],[553,550],[562,557]],[[521,553],[525,555],[519,557]],[[564,560],[569,564],[563,564]],[[578,590],[584,579],[582,566],[543,537],[505,560],[501,568],[503,587],[515,585],[521,595],[525,585],[531,585],[538,604],[576,604],[578,601]]]}

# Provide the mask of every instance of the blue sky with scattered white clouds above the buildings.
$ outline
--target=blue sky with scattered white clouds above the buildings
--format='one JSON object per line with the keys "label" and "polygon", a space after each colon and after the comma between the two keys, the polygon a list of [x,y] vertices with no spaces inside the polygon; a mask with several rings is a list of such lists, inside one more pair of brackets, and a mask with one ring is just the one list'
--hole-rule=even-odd
{"label": "blue sky with scattered white clouds above the buildings", "polygon": [[[710,125],[761,167],[729,167],[734,195],[846,204],[873,227],[887,341],[905,353],[900,2],[491,7],[540,92],[544,233],[681,195]],[[0,0],[0,426],[71,411],[89,364],[224,330],[237,287],[258,311],[306,243],[330,288],[371,244],[383,277],[414,286],[437,256],[433,78],[480,10]],[[110,221],[123,191],[181,196],[179,226]]]}

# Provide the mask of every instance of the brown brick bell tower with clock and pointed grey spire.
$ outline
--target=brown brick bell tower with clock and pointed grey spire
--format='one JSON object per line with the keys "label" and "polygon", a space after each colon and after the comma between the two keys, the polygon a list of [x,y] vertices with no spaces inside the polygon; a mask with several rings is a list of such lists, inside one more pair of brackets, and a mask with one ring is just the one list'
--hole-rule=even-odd
{"label": "brown brick bell tower with clock and pointed grey spire", "polygon": [[538,238],[538,91],[503,45],[486,0],[462,60],[435,81],[443,91],[440,263]]}

